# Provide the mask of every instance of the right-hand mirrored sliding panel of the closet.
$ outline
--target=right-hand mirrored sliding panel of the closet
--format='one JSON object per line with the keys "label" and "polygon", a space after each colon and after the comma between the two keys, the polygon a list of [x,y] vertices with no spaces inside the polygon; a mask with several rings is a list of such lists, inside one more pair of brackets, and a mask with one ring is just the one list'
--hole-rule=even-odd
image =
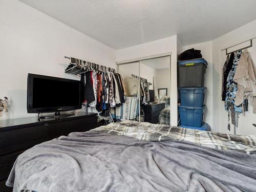
{"label": "right-hand mirrored sliding panel of the closet", "polygon": [[[140,111],[144,122],[170,124],[170,57],[159,57],[140,61],[140,77],[144,92],[141,93]],[[150,82],[144,86],[144,79]]]}

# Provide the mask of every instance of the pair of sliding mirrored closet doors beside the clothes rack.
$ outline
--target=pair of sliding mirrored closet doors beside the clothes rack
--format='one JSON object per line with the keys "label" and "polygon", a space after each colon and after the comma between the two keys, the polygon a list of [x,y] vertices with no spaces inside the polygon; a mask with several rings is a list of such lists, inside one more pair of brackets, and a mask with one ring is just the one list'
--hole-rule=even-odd
{"label": "pair of sliding mirrored closet doors beside the clothes rack", "polygon": [[[170,123],[170,54],[117,62],[127,91],[120,120]],[[136,105],[136,106],[135,106]],[[128,115],[129,114],[129,115]]]}

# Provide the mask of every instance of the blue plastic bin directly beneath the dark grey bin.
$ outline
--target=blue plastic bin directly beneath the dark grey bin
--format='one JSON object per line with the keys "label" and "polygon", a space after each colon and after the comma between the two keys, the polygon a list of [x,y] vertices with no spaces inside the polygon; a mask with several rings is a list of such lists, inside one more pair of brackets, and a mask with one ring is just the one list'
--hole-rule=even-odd
{"label": "blue plastic bin directly beneath the dark grey bin", "polygon": [[206,88],[179,88],[180,103],[182,106],[199,106],[204,105],[204,90]]}

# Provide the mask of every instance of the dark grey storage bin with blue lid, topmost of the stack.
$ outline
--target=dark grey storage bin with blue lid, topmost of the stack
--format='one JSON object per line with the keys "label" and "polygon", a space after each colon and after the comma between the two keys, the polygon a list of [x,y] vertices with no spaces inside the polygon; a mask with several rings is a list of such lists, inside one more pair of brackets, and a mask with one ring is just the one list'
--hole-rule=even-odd
{"label": "dark grey storage bin with blue lid, topmost of the stack", "polygon": [[206,68],[207,62],[203,58],[179,61],[179,87],[204,87]]}

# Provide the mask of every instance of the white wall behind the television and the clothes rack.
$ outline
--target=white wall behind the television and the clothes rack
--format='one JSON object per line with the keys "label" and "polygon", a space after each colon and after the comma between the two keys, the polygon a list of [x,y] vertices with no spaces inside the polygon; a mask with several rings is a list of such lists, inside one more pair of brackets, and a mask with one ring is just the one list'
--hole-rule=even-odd
{"label": "white wall behind the television and the clothes rack", "polygon": [[27,114],[27,75],[79,79],[65,74],[72,56],[115,68],[115,50],[16,0],[0,0],[0,98],[10,99],[0,119]]}

